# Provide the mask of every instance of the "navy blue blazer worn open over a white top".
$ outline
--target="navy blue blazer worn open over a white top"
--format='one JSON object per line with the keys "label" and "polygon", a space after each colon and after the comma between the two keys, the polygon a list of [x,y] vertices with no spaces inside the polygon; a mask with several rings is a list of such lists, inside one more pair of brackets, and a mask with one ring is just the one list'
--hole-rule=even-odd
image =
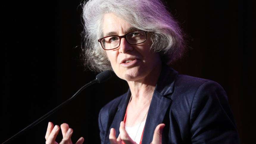
{"label": "navy blue blazer worn open over a white top", "polygon": [[[105,105],[99,113],[102,144],[109,144],[110,129],[119,135],[130,90]],[[227,95],[216,82],[178,75],[163,64],[154,90],[144,127],[142,144],[152,142],[154,129],[160,123],[163,144],[237,144],[240,143]]]}

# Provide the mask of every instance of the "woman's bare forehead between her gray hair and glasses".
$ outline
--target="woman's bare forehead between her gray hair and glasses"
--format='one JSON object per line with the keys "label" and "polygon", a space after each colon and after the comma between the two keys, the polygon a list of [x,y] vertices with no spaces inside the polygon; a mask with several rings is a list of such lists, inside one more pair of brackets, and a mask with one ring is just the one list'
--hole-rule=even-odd
{"label": "woman's bare forehead between her gray hair and glasses", "polygon": [[114,13],[107,13],[104,15],[102,28],[103,35],[106,36],[108,33],[116,35],[125,34],[132,27],[129,23],[118,18]]}

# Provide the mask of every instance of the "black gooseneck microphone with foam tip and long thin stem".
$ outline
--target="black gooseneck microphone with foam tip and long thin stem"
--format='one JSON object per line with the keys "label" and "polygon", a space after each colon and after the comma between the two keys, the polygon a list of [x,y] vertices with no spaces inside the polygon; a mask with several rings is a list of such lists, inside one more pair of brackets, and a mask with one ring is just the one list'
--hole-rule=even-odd
{"label": "black gooseneck microphone with foam tip and long thin stem", "polygon": [[[25,129],[21,130],[20,132],[18,132],[17,134],[15,134],[13,137],[9,138],[8,140],[6,140],[4,143],[8,143],[11,140],[15,139],[16,137],[18,137],[19,135],[23,134],[25,131],[27,131],[28,129],[32,128],[33,126],[35,126],[36,124],[38,124],[40,121],[44,120],[45,118],[47,118],[49,115],[51,115],[52,113],[56,112],[58,109],[60,109],[61,107],[63,107],[65,104],[69,103],[71,100],[73,100],[82,90],[85,89],[85,87],[88,87],[91,84],[94,84],[96,82],[98,83],[102,83],[107,81],[108,79],[111,78],[111,73],[110,71],[103,71],[101,73],[99,73],[96,76],[96,79],[92,80],[91,82],[89,82],[88,84],[85,84],[83,87],[81,87],[71,98],[69,98],[68,100],[66,100],[65,102],[63,102],[62,104],[60,104],[58,107],[55,107],[53,110],[51,110],[50,112],[48,112],[47,114],[45,114],[44,116],[42,116],[41,118],[39,118],[38,120],[36,120],[34,123],[32,123],[31,125],[27,126]],[[2,144],[4,144],[2,143]]]}

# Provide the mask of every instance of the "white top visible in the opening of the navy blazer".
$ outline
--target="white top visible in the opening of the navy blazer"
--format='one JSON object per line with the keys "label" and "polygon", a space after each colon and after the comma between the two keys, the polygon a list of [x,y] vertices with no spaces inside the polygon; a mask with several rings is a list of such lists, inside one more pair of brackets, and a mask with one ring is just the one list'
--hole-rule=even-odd
{"label": "white top visible in the opening of the navy blazer", "polygon": [[[141,126],[140,126],[140,124],[138,124],[137,126],[126,127],[126,129],[127,129],[126,132],[127,132],[127,134],[129,135],[129,137],[131,137],[132,140],[134,140],[134,138],[135,138],[135,136],[136,136],[136,133],[137,133],[137,131],[138,131],[138,134],[137,134],[137,136],[136,136],[136,138],[135,138],[135,142],[136,142],[137,144],[139,144],[140,141],[141,141],[141,135],[142,135],[142,132],[143,132],[145,123],[146,123],[146,120],[141,123]],[[139,128],[139,126],[140,126],[140,128]],[[138,128],[139,128],[139,130],[138,130]]]}

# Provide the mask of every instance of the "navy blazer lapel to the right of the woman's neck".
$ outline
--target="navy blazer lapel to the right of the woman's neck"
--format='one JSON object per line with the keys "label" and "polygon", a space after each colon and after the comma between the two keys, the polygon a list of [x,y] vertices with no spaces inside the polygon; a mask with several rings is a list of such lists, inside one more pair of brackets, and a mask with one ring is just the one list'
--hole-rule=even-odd
{"label": "navy blazer lapel to the right of the woman's neck", "polygon": [[166,112],[171,106],[171,93],[173,93],[174,81],[177,75],[177,71],[174,71],[166,64],[162,65],[162,71],[149,106],[149,112],[142,137],[142,144],[151,143],[155,128],[160,123],[163,123]]}

